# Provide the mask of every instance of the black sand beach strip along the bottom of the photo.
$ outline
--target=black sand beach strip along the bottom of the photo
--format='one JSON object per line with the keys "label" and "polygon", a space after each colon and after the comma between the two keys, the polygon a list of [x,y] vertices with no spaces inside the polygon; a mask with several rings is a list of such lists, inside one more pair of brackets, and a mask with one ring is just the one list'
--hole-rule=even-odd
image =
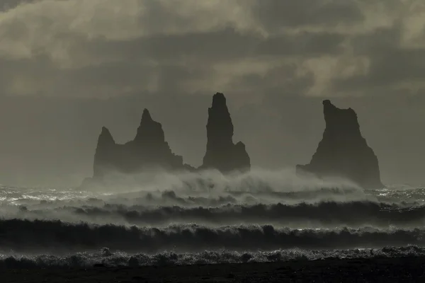
{"label": "black sand beach strip along the bottom of the photo", "polygon": [[1,282],[424,282],[425,258],[0,271]]}

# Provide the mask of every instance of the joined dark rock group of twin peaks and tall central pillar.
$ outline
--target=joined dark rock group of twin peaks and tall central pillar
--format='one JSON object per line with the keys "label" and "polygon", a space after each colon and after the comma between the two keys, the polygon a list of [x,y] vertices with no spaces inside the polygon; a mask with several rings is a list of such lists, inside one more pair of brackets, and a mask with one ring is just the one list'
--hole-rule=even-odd
{"label": "joined dark rock group of twin peaks and tall central pillar", "polygon": [[[246,171],[251,167],[245,145],[233,144],[233,124],[222,93],[212,98],[208,109],[207,151],[200,170],[215,168],[222,173]],[[94,176],[84,180],[83,185],[104,180],[110,173],[140,173],[145,169],[160,168],[166,171],[195,171],[183,164],[183,158],[174,154],[165,141],[159,122],[152,120],[149,111],[143,111],[135,139],[126,144],[115,143],[111,132],[102,127],[94,155]]]}

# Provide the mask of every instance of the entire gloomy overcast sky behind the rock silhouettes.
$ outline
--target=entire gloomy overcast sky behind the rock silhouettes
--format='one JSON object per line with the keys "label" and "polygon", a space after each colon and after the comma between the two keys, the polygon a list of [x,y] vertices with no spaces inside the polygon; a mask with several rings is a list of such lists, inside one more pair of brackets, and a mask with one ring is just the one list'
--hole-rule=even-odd
{"label": "entire gloomy overcast sky behind the rock silhouettes", "polygon": [[421,0],[3,0],[0,183],[81,182],[144,108],[198,166],[220,91],[254,166],[308,163],[329,98],[384,183],[424,184],[424,28]]}

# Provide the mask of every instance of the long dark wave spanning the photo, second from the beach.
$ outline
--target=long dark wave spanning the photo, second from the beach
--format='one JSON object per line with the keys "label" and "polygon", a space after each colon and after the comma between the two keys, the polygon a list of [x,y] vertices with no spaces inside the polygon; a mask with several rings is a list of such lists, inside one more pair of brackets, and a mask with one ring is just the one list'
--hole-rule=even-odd
{"label": "long dark wave spanning the photo, second from the beach", "polygon": [[0,221],[2,250],[51,253],[112,250],[156,253],[205,249],[276,250],[279,248],[380,248],[424,245],[425,229],[289,229],[272,225],[208,227],[198,224],[166,228],[69,224],[62,221]]}

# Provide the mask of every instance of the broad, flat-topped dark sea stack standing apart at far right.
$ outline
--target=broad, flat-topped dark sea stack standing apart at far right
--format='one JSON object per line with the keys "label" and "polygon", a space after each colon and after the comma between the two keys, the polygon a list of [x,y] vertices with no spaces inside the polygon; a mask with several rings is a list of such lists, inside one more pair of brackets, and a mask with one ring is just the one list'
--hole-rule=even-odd
{"label": "broad, flat-topped dark sea stack standing apart at far right", "polygon": [[378,158],[361,135],[356,112],[336,108],[330,100],[323,101],[323,112],[322,141],[310,164],[297,165],[297,172],[346,178],[366,189],[384,187]]}

